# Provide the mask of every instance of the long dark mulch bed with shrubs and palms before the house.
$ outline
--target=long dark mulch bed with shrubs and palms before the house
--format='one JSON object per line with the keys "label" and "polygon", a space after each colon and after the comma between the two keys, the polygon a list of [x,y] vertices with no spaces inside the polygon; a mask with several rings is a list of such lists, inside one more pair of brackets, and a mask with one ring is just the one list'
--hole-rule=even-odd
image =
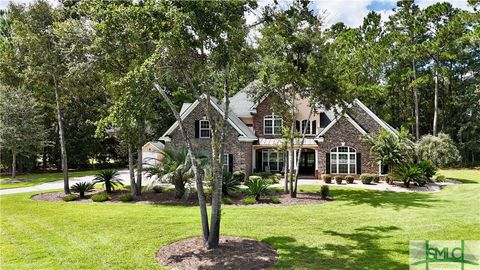
{"label": "long dark mulch bed with shrubs and palms before the house", "polygon": [[[90,199],[92,195],[97,193],[102,193],[102,190],[94,190],[85,194],[85,198],[77,198],[74,201],[68,203],[93,203]],[[120,201],[119,197],[123,194],[128,194],[127,190],[115,190],[109,194],[110,199],[102,203],[123,203]],[[31,198],[35,201],[47,201],[47,202],[64,202],[63,196],[65,194],[61,191],[58,192],[46,192],[33,195]],[[229,196],[233,201],[233,206],[250,206],[250,207],[264,207],[264,206],[287,206],[287,205],[306,205],[306,204],[319,204],[325,203],[327,200],[323,200],[320,197],[319,193],[315,192],[298,192],[297,198],[290,198],[289,194],[283,192],[273,192],[269,196],[265,196],[260,199],[259,202],[252,205],[245,205],[242,202],[244,196],[241,193],[233,193]],[[273,204],[270,201],[270,198],[277,197],[280,199],[279,204]],[[135,198],[134,201],[126,203],[137,203],[137,204],[161,204],[161,205],[183,205],[183,206],[194,206],[198,205],[197,194],[193,193],[188,199],[176,199],[175,193],[173,191],[165,191],[161,193],[156,193],[153,191],[143,192],[140,196]]]}

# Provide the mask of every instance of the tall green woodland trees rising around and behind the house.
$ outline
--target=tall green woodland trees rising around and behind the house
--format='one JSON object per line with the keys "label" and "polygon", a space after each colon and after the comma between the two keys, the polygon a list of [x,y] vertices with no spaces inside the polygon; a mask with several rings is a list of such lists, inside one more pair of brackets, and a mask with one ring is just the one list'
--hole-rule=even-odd
{"label": "tall green woodland trees rising around and behind the house", "polygon": [[[17,146],[29,148],[15,153],[17,168],[134,167],[141,146],[175,121],[153,81],[179,109],[198,93],[231,96],[255,79],[314,88],[318,101],[359,98],[413,140],[450,135],[459,165],[478,164],[480,16],[469,3],[471,11],[399,1],[389,18],[372,11],[356,28],[326,26],[307,1],[295,2],[296,16],[263,8],[255,25],[245,22],[255,1],[10,4],[0,11],[0,90],[15,94],[0,103],[41,121],[25,137],[37,136],[34,146]],[[262,35],[249,44],[248,31]],[[7,107],[13,100],[26,102]],[[11,147],[0,148],[3,171]]]}

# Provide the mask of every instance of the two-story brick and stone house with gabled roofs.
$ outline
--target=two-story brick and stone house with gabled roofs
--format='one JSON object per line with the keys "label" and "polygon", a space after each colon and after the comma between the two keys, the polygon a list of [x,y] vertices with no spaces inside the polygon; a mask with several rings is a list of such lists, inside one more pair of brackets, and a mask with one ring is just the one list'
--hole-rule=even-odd
{"label": "two-story brick and stone house with gabled roofs", "polygon": [[[212,108],[224,115],[224,105],[211,98]],[[373,162],[369,144],[364,137],[380,129],[397,134],[397,131],[376,116],[358,99],[348,110],[334,113],[333,110],[315,106],[310,115],[309,102],[297,99],[296,129],[305,130],[305,141],[300,162],[294,167],[303,177],[320,178],[322,174],[359,175],[364,172],[379,173],[379,165]],[[283,119],[275,114],[272,98],[254,102],[246,90],[230,98],[227,127],[227,143],[224,151],[224,168],[228,171],[242,170],[247,175],[254,172],[283,172],[288,153],[279,151],[283,140]],[[183,104],[180,115],[186,132],[192,138],[195,151],[210,152],[210,125],[203,107],[197,100]],[[180,147],[184,140],[174,123],[160,138],[166,147]],[[298,144],[300,141],[298,140]],[[295,146],[295,154],[300,145]]]}

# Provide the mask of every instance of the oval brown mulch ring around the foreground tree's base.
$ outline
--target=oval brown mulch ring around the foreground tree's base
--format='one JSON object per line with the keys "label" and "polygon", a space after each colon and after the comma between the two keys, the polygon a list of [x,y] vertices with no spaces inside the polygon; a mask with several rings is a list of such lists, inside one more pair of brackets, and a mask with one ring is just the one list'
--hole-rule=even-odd
{"label": "oval brown mulch ring around the foreground tree's base", "polygon": [[277,251],[270,245],[240,237],[220,238],[217,249],[207,250],[200,237],[189,238],[161,248],[157,261],[173,269],[267,269],[277,261]]}

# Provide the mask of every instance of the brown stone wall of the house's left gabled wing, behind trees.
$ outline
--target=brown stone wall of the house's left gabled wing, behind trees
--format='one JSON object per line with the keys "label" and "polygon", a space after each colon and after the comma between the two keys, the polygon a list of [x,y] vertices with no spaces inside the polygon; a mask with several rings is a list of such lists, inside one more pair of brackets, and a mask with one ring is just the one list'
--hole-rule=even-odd
{"label": "brown stone wall of the house's left gabled wing, behind trees", "polygon": [[[215,109],[212,108],[213,111]],[[215,111],[218,116],[220,113]],[[205,113],[202,104],[199,104],[184,120],[184,126],[192,140],[194,151],[199,153],[211,153],[211,139],[195,138],[195,121],[204,119]],[[206,119],[206,118],[205,118]],[[238,131],[230,124],[227,125],[227,134],[225,141],[225,154],[233,154],[233,170],[244,171],[247,175],[252,172],[252,143],[239,142]],[[165,143],[166,147],[178,148],[184,145],[184,139],[180,128],[175,129],[170,134],[171,141]]]}

